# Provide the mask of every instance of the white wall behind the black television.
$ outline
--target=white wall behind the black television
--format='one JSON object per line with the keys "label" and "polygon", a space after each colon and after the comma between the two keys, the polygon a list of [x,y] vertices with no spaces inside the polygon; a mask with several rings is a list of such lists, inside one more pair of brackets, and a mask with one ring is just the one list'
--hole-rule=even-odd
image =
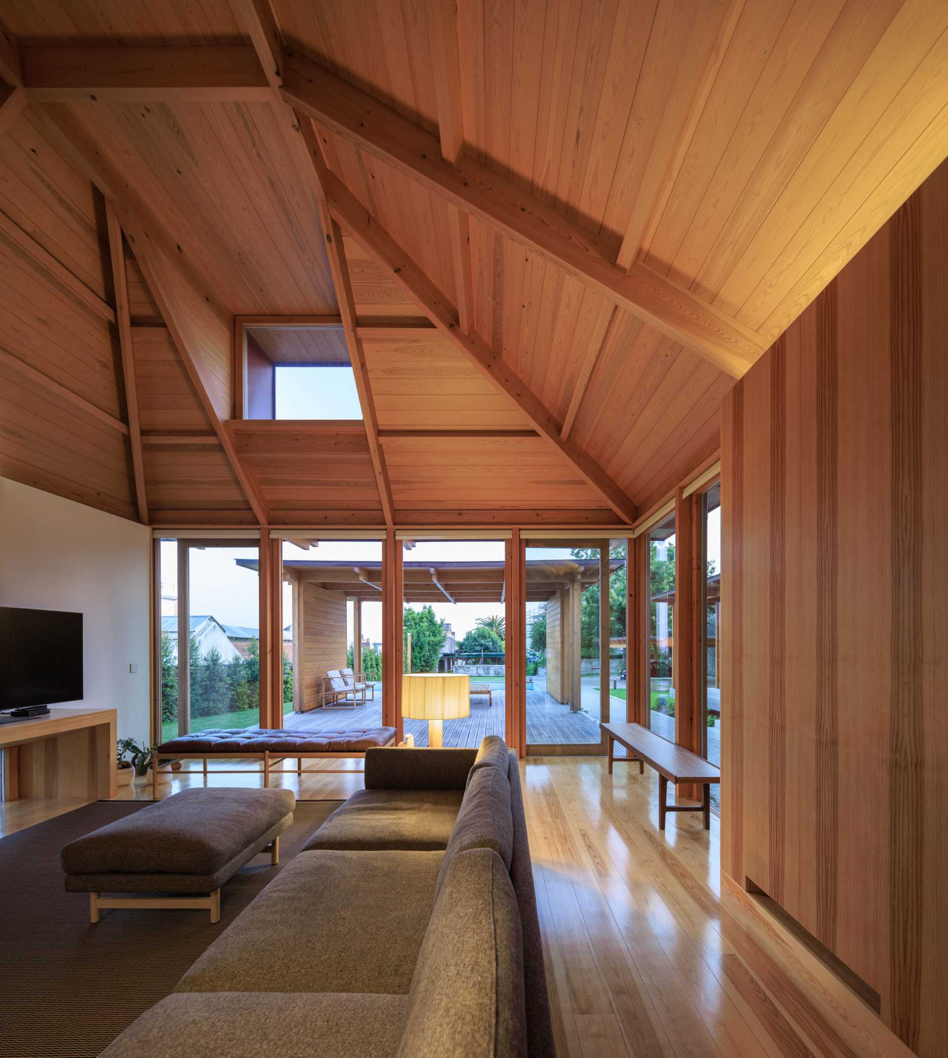
{"label": "white wall behind the black television", "polygon": [[0,478],[0,605],[82,613],[82,700],[117,709],[119,737],[149,735],[150,536],[147,526]]}

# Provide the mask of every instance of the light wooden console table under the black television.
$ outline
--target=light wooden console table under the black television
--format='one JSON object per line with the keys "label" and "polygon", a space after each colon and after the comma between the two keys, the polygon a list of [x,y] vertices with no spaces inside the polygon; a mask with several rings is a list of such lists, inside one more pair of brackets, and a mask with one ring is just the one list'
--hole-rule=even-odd
{"label": "light wooden console table under the black television", "polygon": [[3,800],[115,797],[115,710],[53,706],[48,716],[0,716]]}

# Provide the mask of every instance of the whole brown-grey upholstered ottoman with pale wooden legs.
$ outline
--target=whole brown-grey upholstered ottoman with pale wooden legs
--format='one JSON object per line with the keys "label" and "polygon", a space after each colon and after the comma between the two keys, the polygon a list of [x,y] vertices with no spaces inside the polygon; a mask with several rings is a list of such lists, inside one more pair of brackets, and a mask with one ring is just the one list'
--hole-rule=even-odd
{"label": "whole brown-grey upholstered ottoman with pale wooden legs", "polygon": [[208,908],[220,922],[221,886],[264,850],[278,862],[295,806],[292,790],[182,790],[70,842],[66,890],[89,893],[94,923],[101,908]]}

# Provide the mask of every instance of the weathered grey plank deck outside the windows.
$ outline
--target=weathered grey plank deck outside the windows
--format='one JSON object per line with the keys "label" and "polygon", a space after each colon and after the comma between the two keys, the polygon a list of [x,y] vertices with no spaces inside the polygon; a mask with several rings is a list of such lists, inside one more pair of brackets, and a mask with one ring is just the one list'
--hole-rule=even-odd
{"label": "weathered grey plank deck outside the windows", "polygon": [[[542,687],[539,681],[539,687]],[[504,734],[504,690],[494,688],[494,705],[488,706],[486,697],[475,696],[470,703],[470,715],[460,720],[445,720],[445,746],[479,746],[488,734]],[[599,699],[595,696],[583,705],[587,712],[570,712],[570,707],[557,701],[545,690],[526,692],[526,741],[528,745],[566,744],[581,745],[598,743]],[[621,708],[625,701],[613,698],[613,709]],[[594,705],[595,711],[591,706]],[[376,690],[375,701],[355,709],[314,709],[308,713],[290,713],[283,726],[297,731],[332,731],[347,728],[375,727],[382,724],[382,695]],[[415,746],[428,745],[427,720],[405,720],[405,733],[414,736]]]}

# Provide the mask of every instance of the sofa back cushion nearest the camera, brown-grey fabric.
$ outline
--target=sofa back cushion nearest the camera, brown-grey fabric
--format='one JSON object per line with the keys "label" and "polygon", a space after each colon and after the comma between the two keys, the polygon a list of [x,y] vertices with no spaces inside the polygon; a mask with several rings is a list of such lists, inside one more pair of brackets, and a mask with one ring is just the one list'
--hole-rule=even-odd
{"label": "sofa back cushion nearest the camera, brown-grey fabric", "polygon": [[422,942],[397,1058],[526,1054],[523,943],[507,869],[488,849],[451,858]]}

